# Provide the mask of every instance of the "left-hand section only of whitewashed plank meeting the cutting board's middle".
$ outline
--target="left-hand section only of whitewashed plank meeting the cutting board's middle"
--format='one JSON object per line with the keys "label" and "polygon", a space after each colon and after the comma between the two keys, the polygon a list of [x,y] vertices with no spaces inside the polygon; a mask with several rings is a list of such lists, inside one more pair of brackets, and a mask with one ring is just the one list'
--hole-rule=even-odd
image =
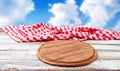
{"label": "left-hand section only of whitewashed plank meeting the cutting board's middle", "polygon": [[36,51],[0,51],[0,60],[38,59]]}

